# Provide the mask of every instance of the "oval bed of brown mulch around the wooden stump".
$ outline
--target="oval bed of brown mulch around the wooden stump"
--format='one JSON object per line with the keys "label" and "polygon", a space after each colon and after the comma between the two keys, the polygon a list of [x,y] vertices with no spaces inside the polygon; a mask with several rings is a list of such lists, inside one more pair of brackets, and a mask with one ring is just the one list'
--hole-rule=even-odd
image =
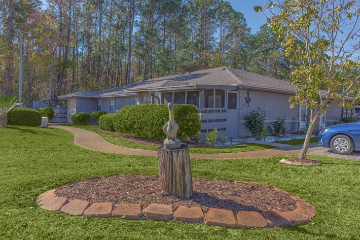
{"label": "oval bed of brown mulch around the wooden stump", "polygon": [[141,208],[150,203],[201,206],[204,213],[209,208],[238,211],[279,210],[293,211],[297,203],[288,194],[273,187],[247,182],[234,182],[207,178],[193,178],[194,195],[179,199],[160,190],[158,176],[113,175],[69,183],[56,190],[56,195],[69,199],[94,202],[140,203]]}

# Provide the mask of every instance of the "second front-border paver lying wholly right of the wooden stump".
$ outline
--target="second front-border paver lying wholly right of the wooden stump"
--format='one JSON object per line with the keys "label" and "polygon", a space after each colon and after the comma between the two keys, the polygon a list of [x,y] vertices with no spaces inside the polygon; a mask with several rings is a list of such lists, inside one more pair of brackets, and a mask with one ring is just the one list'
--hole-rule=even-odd
{"label": "second front-border paver lying wholly right of the wooden stump", "polygon": [[264,228],[268,221],[258,212],[239,211],[237,212],[237,226],[242,228]]}

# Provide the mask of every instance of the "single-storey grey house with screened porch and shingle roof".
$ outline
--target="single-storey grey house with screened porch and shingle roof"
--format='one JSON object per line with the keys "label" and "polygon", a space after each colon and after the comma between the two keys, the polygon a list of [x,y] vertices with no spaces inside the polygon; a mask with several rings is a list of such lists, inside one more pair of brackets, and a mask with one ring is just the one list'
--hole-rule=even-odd
{"label": "single-storey grey house with screened porch and shingle roof", "polygon": [[[116,113],[126,105],[192,104],[201,114],[201,139],[217,128],[229,138],[250,135],[245,116],[257,107],[266,111],[266,124],[285,117],[285,127],[296,133],[305,128],[305,106],[290,108],[296,87],[289,82],[222,67],[174,74],[104,91],[81,91],[59,96],[67,100],[68,119],[78,112]],[[332,125],[343,109],[332,106],[320,118],[317,129]]]}

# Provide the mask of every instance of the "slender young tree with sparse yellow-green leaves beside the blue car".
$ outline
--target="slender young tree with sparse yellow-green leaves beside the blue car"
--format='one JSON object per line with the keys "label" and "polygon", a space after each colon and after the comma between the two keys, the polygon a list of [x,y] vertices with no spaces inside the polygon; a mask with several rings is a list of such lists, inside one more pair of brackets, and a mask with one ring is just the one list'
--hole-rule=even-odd
{"label": "slender young tree with sparse yellow-green leaves beside the blue car", "polygon": [[[291,77],[298,87],[292,107],[306,105],[310,124],[299,159],[305,159],[315,123],[333,105],[344,106],[349,97],[360,98],[359,3],[355,0],[269,1],[269,26],[278,33],[291,60],[300,63]],[[304,42],[301,48],[294,43]]]}

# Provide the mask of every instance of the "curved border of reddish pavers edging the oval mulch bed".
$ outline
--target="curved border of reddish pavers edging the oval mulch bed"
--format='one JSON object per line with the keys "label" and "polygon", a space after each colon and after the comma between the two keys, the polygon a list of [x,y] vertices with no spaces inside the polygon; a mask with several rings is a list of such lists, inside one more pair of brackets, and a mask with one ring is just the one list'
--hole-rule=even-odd
{"label": "curved border of reddish pavers edging the oval mulch bed", "polygon": [[[239,181],[234,181],[239,182]],[[179,206],[173,211],[171,205],[151,203],[140,204],[112,202],[96,202],[90,204],[80,199],[67,199],[55,194],[56,189],[49,190],[37,198],[42,209],[59,211],[70,215],[88,217],[122,217],[125,219],[156,219],[165,221],[179,221],[187,223],[204,223],[217,226],[237,227],[245,229],[273,228],[306,224],[316,215],[316,210],[310,203],[289,192],[274,187],[293,198],[297,207],[294,211],[280,212],[276,209],[264,212],[239,211],[237,215],[227,209],[210,208],[204,214],[200,207],[188,208]]]}

